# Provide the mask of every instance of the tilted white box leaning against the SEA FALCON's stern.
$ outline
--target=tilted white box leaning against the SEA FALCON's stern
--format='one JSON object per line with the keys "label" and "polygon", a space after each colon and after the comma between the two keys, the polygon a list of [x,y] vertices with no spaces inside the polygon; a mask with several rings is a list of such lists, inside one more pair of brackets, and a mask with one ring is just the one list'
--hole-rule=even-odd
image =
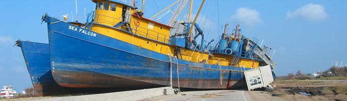
{"label": "tilted white box leaning against the SEA FALCON's stern", "polygon": [[248,90],[266,87],[273,82],[270,65],[245,71]]}

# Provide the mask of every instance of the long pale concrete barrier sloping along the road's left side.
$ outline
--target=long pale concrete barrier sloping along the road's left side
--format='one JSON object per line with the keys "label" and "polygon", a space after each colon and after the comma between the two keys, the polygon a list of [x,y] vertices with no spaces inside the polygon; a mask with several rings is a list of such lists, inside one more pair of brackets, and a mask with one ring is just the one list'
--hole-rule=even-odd
{"label": "long pale concrete barrier sloping along the road's left side", "polygon": [[83,100],[141,100],[144,98],[154,97],[163,95],[163,89],[169,87],[151,88],[151,89],[140,89],[131,91],[120,91],[111,93],[100,93],[90,95],[79,95],[79,96],[66,96],[66,97],[55,97],[50,99],[40,99],[48,101],[83,101]]}

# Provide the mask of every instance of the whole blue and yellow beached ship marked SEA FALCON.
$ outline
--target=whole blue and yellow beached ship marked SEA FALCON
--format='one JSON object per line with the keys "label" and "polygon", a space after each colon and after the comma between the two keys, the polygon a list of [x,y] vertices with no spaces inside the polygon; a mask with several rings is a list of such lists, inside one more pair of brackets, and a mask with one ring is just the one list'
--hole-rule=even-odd
{"label": "whole blue and yellow beached ship marked SEA FALCON", "polygon": [[224,31],[218,44],[208,48],[197,17],[165,25],[144,18],[134,5],[92,2],[96,10],[86,23],[43,16],[52,76],[61,86],[244,88],[243,71],[275,65],[263,48],[241,35],[239,25],[235,33]]}

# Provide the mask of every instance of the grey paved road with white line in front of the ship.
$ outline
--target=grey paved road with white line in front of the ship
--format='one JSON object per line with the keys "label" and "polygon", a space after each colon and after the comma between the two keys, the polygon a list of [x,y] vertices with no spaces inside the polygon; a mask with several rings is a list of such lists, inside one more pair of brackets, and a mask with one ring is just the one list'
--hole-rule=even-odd
{"label": "grey paved road with white line in front of the ship", "polygon": [[181,92],[177,95],[161,95],[147,100],[180,100],[180,101],[208,101],[208,100],[284,100],[281,97],[271,96],[271,93],[264,91],[245,91],[245,90],[205,90]]}

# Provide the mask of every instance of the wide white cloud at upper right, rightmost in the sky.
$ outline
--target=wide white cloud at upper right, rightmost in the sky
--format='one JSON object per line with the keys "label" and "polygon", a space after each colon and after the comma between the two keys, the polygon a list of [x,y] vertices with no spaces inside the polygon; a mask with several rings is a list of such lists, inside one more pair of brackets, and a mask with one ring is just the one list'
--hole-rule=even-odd
{"label": "wide white cloud at upper right, rightmost in the sky", "polygon": [[307,4],[294,12],[288,11],[286,19],[302,17],[311,21],[324,20],[328,17],[325,8],[320,4]]}

